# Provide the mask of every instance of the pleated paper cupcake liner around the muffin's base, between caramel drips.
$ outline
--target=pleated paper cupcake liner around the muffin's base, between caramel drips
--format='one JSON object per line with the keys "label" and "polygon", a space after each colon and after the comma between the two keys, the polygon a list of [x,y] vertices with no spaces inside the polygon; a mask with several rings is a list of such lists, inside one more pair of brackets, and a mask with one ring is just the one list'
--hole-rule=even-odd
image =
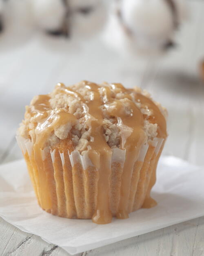
{"label": "pleated paper cupcake liner around the muffin's base, between caramel drips", "polygon": [[[68,218],[91,219],[97,208],[99,171],[89,158],[89,152],[81,155],[78,151],[69,153],[46,147],[36,162],[33,143],[30,139],[16,136],[31,177],[38,204],[53,215]],[[128,178],[125,208],[128,213],[156,203],[150,196],[155,183],[155,170],[165,140],[154,138],[142,145],[135,157]],[[116,216],[121,200],[121,184],[124,174],[126,150],[112,149],[112,156],[106,164],[109,170],[107,180],[109,209]]]}

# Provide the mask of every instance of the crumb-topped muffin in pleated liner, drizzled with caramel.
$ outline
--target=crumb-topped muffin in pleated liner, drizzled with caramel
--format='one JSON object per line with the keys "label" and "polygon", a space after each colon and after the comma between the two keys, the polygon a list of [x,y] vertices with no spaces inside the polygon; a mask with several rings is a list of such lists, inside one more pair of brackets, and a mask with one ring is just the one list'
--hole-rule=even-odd
{"label": "crumb-topped muffin in pleated liner, drizzled with caramel", "polygon": [[150,192],[164,147],[166,110],[140,88],[57,84],[26,106],[17,140],[38,204],[97,224],[156,205]]}

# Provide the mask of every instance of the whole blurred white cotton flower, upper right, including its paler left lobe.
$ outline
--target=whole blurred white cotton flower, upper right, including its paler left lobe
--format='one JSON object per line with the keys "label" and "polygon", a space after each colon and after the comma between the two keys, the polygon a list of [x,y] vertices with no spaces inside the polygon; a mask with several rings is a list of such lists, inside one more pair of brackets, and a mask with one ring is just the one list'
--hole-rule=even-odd
{"label": "whole blurred white cotton flower, upper right, including its paler left lobe", "polygon": [[174,33],[185,17],[184,0],[115,0],[105,39],[112,48],[133,57],[158,56],[173,45]]}

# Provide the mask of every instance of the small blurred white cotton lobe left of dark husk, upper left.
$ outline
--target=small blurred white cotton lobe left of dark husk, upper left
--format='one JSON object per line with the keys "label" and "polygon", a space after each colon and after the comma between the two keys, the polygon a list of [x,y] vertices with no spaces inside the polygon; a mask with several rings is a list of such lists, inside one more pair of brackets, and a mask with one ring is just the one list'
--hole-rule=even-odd
{"label": "small blurred white cotton lobe left of dark husk, upper left", "polygon": [[62,0],[33,0],[33,14],[38,27],[53,31],[62,26],[66,8]]}

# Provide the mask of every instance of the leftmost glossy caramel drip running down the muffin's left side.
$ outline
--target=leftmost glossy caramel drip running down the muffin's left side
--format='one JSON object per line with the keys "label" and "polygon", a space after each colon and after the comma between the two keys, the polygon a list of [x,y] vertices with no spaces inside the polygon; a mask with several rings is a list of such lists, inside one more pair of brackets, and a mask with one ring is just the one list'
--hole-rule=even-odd
{"label": "leftmost glossy caramel drip running down the muffin's left side", "polygon": [[42,149],[45,147],[47,138],[56,127],[67,122],[74,123],[76,120],[75,116],[65,112],[63,109],[51,110],[49,99],[49,95],[39,95],[33,103],[33,114],[37,114],[36,119],[38,118],[38,125],[35,128],[35,134],[32,136],[33,152],[39,173],[41,206],[45,210],[51,208],[52,203],[49,194],[49,181],[44,165],[42,165]]}

